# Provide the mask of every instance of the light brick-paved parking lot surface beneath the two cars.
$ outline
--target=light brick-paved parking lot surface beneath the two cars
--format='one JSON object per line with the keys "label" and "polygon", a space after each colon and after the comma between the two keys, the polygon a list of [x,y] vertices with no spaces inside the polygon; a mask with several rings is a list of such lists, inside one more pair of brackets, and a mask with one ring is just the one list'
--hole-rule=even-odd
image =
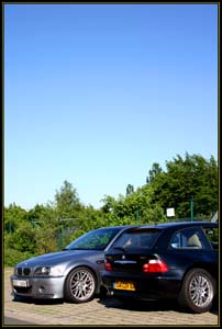
{"label": "light brick-paved parking lot surface beneath the two cars", "polygon": [[136,303],[127,307],[112,297],[99,296],[85,304],[64,300],[14,302],[9,279],[12,271],[11,268],[4,269],[4,317],[34,326],[220,327],[218,308],[204,314],[189,314],[179,310],[176,304],[168,300]]}

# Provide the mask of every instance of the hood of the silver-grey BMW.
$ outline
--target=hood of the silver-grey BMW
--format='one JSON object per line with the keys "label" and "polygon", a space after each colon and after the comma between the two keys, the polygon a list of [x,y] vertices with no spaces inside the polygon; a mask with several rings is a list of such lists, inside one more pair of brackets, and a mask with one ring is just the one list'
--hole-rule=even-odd
{"label": "hood of the silver-grey BMW", "polygon": [[56,265],[70,260],[82,258],[93,258],[93,256],[103,254],[101,250],[63,250],[41,254],[16,264],[16,266],[35,266],[35,265]]}

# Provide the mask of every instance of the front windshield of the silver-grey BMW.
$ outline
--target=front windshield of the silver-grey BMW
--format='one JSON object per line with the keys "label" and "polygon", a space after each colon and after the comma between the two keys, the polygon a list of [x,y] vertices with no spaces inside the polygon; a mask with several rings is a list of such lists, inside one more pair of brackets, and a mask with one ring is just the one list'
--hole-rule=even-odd
{"label": "front windshield of the silver-grey BMW", "polygon": [[65,249],[104,250],[120,229],[120,227],[108,227],[91,230],[74,240]]}

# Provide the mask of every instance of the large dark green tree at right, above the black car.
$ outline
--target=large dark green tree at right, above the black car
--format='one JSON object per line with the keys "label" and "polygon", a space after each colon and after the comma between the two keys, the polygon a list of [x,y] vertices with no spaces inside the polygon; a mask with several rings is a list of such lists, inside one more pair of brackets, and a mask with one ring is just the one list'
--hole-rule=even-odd
{"label": "large dark green tree at right, above the black car", "polygon": [[213,157],[210,161],[198,155],[186,154],[166,162],[166,172],[158,173],[151,186],[152,203],[164,209],[174,207],[177,218],[190,216],[193,200],[195,216],[211,216],[218,209],[218,166]]}

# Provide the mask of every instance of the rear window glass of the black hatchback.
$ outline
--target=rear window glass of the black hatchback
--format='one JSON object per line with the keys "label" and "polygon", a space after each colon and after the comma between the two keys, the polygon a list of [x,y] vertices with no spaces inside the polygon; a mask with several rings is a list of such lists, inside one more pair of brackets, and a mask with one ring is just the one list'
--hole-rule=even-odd
{"label": "rear window glass of the black hatchback", "polygon": [[160,229],[133,229],[123,232],[112,247],[114,248],[152,248],[160,235]]}

